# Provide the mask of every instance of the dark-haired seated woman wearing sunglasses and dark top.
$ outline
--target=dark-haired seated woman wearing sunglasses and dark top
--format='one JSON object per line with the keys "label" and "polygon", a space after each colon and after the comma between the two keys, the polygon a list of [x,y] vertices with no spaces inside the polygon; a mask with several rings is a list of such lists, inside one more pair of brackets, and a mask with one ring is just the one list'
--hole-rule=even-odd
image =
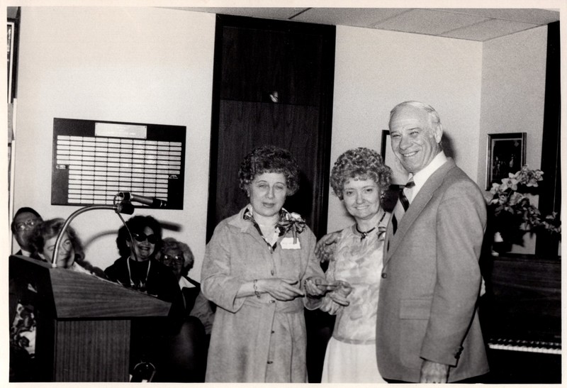
{"label": "dark-haired seated woman wearing sunglasses and dark top", "polygon": [[152,216],[131,217],[118,229],[116,245],[120,258],[104,270],[108,279],[183,306],[175,275],[155,258],[162,246],[159,221]]}

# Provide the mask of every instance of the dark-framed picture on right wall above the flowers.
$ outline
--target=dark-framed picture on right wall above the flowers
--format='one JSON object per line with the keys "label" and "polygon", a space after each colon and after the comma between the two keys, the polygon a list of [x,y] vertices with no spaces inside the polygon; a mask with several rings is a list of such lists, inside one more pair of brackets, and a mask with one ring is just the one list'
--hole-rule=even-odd
{"label": "dark-framed picture on right wall above the flowers", "polygon": [[489,133],[486,152],[486,189],[502,183],[509,173],[520,171],[526,162],[526,133]]}

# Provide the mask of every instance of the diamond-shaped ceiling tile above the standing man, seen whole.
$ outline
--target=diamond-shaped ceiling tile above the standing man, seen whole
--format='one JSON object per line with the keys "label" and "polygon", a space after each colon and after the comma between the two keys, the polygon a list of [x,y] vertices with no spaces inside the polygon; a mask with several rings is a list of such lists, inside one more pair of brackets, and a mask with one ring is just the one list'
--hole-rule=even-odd
{"label": "diamond-shaped ceiling tile above the standing man, seen whole", "polygon": [[403,31],[408,33],[423,33],[427,35],[439,35],[447,31],[470,26],[486,19],[481,16],[465,15],[462,13],[451,13],[444,11],[431,11],[427,9],[413,9],[401,13],[383,23],[378,23],[376,28]]}

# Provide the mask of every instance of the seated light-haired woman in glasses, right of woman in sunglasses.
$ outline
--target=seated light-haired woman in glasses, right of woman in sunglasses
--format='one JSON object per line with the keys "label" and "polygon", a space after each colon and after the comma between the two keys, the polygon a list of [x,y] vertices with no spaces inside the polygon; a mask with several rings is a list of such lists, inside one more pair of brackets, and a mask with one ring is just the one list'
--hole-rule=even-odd
{"label": "seated light-haired woman in glasses, right of woman in sunglasses", "polygon": [[159,261],[172,269],[179,282],[185,302],[185,315],[199,318],[207,336],[210,336],[215,305],[205,298],[201,292],[201,284],[189,277],[189,271],[195,261],[189,245],[174,238],[164,238]]}

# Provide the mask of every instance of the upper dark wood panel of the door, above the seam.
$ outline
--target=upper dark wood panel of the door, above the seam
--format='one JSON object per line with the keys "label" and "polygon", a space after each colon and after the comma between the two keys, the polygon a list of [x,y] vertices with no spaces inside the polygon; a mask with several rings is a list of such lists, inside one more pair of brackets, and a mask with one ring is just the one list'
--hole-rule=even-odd
{"label": "upper dark wood panel of the door, above the seam", "polygon": [[318,106],[322,36],[269,28],[224,29],[220,98],[260,102],[276,90],[280,103]]}

